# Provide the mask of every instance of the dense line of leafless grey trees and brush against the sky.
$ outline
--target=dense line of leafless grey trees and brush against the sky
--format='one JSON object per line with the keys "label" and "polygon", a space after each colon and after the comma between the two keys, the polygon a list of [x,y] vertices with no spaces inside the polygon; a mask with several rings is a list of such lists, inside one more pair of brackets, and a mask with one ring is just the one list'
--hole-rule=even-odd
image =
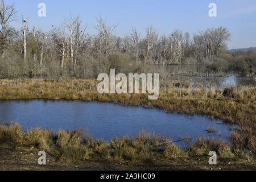
{"label": "dense line of leafless grey trees and brush against the sky", "polygon": [[[10,26],[16,20],[14,5],[0,7],[0,77],[80,77],[92,78],[110,68],[146,72],[152,64],[217,63],[223,57],[229,31],[224,27],[208,28],[191,36],[175,30],[160,36],[148,27],[141,36],[136,28],[119,37],[117,26],[96,19],[96,34],[82,27],[80,16],[70,16],[60,27],[44,32],[30,30],[27,20],[20,20],[22,31]],[[120,70],[119,70],[120,71]]]}

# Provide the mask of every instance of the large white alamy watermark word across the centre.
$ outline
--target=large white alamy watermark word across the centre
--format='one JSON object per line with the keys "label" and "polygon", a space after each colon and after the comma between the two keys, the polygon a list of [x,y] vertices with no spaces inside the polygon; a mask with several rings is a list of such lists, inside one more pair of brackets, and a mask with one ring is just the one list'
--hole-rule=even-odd
{"label": "large white alamy watermark word across the centre", "polygon": [[[153,79],[154,78],[154,79]],[[155,73],[130,73],[128,78],[125,74],[115,75],[115,69],[110,69],[110,77],[106,73],[98,75],[98,93],[100,94],[150,94],[148,100],[157,100],[159,97],[159,74]],[[153,88],[154,82],[154,88]]]}

